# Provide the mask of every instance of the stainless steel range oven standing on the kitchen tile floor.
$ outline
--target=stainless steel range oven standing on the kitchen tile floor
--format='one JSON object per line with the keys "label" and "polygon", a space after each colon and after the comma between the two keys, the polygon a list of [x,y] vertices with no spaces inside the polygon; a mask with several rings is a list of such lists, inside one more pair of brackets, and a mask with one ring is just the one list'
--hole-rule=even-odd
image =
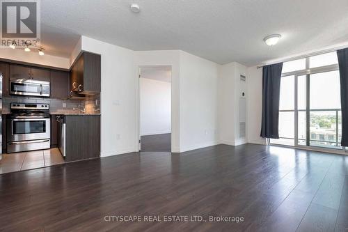
{"label": "stainless steel range oven standing on the kitchen tile floor", "polygon": [[10,108],[6,117],[8,153],[50,148],[49,105],[11,103]]}

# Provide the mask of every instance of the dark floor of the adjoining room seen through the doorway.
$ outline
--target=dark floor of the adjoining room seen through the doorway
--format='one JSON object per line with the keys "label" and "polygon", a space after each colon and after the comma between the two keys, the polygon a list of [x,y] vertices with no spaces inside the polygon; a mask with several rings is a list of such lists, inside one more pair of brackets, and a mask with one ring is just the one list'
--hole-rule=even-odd
{"label": "dark floor of the adjoining room seen through the doorway", "polygon": [[141,136],[141,151],[171,151],[171,133]]}

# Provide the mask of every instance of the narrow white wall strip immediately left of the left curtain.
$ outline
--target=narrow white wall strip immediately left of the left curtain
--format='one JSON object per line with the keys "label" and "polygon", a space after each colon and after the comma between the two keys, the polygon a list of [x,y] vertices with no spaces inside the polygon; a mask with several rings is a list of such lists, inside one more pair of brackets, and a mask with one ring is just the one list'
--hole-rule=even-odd
{"label": "narrow white wall strip immediately left of the left curtain", "polygon": [[256,66],[247,69],[247,135],[251,144],[266,144],[260,137],[262,119],[262,68]]}

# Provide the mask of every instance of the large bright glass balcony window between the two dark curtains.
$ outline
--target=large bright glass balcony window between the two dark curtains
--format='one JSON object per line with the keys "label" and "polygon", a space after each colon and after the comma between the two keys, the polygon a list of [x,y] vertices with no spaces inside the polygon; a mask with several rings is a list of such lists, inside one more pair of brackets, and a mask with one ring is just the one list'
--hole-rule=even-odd
{"label": "large bright glass balcony window between the two dark curtains", "polygon": [[342,149],[341,117],[336,52],[283,63],[280,139],[271,144]]}

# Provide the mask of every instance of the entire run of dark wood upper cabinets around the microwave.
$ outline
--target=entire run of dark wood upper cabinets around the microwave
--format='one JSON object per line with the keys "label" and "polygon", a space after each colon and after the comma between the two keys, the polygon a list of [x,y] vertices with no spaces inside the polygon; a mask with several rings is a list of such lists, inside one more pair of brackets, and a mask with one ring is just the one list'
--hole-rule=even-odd
{"label": "entire run of dark wood upper cabinets around the microwave", "polygon": [[33,79],[50,82],[49,98],[84,99],[86,95],[100,94],[100,61],[100,55],[83,52],[74,62],[70,71],[0,62],[0,75],[3,76],[3,95],[10,95],[10,79],[24,79],[24,81]]}

